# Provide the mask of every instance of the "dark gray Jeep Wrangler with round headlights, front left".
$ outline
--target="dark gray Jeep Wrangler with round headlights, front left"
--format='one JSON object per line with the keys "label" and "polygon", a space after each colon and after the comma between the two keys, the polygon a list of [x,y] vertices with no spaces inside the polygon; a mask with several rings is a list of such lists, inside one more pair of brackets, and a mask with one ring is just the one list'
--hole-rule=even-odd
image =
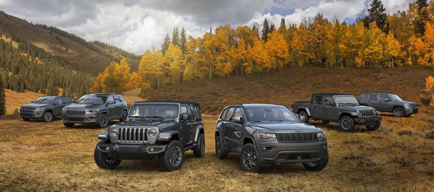
{"label": "dark gray Jeep Wrangler with round headlights, front left", "polygon": [[99,132],[94,159],[102,169],[115,169],[122,160],[151,160],[164,171],[181,168],[184,151],[205,154],[205,132],[199,103],[135,102],[124,122]]}

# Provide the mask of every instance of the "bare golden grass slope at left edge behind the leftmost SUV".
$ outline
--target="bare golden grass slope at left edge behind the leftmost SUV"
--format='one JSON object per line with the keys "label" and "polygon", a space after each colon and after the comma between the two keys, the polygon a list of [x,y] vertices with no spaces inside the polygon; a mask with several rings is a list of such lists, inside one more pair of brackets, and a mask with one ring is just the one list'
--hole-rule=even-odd
{"label": "bare golden grass slope at left edge behind the leftmost SUV", "polygon": [[30,101],[44,96],[41,93],[34,93],[30,91],[26,91],[26,93],[19,93],[10,89],[5,89],[6,93],[6,114],[12,114],[15,109],[20,109],[20,106],[26,103],[30,103]]}

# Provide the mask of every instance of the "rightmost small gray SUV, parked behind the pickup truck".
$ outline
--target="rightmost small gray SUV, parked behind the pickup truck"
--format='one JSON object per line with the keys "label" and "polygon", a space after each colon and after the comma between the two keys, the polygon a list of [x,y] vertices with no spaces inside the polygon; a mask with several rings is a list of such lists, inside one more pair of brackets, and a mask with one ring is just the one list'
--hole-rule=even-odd
{"label": "rightmost small gray SUV, parked behind the pickup truck", "polygon": [[418,104],[403,101],[393,93],[362,93],[358,98],[362,106],[369,106],[381,112],[393,113],[394,116],[411,116],[419,113]]}

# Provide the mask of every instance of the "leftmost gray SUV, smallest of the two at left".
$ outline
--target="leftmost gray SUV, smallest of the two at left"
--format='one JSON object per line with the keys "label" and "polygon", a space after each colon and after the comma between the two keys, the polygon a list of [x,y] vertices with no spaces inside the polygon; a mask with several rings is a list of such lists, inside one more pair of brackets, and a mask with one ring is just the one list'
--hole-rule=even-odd
{"label": "leftmost gray SUV, smallest of the two at left", "polygon": [[56,116],[62,115],[62,108],[72,103],[71,97],[65,96],[42,96],[20,107],[21,119],[42,119],[50,122]]}

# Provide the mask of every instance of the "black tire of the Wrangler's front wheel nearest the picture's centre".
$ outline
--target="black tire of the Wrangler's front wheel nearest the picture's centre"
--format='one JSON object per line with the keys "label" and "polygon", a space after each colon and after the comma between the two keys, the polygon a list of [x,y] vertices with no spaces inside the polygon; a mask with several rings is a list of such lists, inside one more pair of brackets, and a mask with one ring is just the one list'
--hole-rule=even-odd
{"label": "black tire of the Wrangler's front wheel nearest the picture's centre", "polygon": [[[181,160],[178,165],[173,166],[170,162],[171,150],[178,147],[181,153]],[[160,162],[160,167],[163,171],[175,171],[181,169],[182,163],[184,162],[184,147],[182,147],[181,142],[178,140],[171,140],[168,142],[167,150],[163,153],[158,154],[158,161]]]}

